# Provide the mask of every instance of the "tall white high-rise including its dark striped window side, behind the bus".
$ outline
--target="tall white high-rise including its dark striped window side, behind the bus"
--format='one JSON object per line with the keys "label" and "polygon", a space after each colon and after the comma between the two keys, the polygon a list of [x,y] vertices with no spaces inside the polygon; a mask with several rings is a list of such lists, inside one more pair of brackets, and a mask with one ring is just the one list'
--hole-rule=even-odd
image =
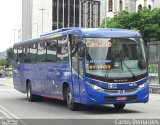
{"label": "tall white high-rise including its dark striped window side, behind the bus", "polygon": [[62,27],[98,27],[100,1],[23,0],[22,40]]}

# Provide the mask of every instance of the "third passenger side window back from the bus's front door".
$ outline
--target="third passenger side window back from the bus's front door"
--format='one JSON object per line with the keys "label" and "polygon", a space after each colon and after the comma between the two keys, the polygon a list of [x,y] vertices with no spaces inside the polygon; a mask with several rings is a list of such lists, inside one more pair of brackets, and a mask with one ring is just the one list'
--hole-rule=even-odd
{"label": "third passenger side window back from the bus's front door", "polygon": [[38,43],[38,62],[46,62],[46,43]]}

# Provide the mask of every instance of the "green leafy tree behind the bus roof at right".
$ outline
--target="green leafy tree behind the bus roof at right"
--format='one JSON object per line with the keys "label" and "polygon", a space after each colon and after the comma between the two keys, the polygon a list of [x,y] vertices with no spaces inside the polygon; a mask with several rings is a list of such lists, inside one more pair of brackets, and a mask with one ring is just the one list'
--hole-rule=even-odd
{"label": "green leafy tree behind the bus roof at right", "polygon": [[[103,20],[101,27],[105,27]],[[121,11],[107,18],[106,27],[137,30],[146,42],[160,40],[160,9],[143,8],[138,12]]]}

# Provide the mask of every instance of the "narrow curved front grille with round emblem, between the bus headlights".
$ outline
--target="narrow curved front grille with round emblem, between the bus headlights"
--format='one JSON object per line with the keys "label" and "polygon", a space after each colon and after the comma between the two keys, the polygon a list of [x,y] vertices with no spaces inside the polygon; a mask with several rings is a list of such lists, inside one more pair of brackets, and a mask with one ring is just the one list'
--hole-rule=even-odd
{"label": "narrow curved front grille with round emblem, between the bus headlights", "polygon": [[104,90],[105,92],[107,92],[108,94],[130,94],[130,93],[134,93],[138,90],[138,88],[136,89],[126,89],[126,90],[109,90],[106,89]]}

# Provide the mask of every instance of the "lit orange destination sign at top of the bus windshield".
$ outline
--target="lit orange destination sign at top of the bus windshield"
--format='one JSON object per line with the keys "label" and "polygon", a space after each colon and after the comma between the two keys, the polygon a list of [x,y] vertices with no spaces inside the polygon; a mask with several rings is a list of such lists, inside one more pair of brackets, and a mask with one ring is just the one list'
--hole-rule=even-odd
{"label": "lit orange destination sign at top of the bus windshield", "polygon": [[111,47],[111,42],[86,42],[86,47]]}

